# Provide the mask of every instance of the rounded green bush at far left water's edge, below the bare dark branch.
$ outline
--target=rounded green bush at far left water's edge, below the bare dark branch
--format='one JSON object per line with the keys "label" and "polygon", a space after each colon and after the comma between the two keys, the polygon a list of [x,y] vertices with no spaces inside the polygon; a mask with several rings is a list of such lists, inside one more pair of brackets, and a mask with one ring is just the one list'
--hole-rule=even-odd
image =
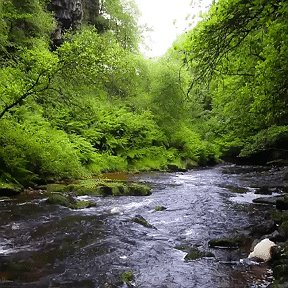
{"label": "rounded green bush at far left water's edge, below the bare dark branch", "polygon": [[21,122],[13,118],[1,120],[1,170],[23,184],[39,177],[84,176],[85,170],[67,135],[37,115],[30,114],[27,118]]}

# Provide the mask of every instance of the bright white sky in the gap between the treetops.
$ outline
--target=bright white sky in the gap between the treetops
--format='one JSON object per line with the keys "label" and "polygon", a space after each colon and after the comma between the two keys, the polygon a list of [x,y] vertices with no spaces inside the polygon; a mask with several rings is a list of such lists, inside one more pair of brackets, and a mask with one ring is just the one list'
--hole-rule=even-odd
{"label": "bright white sky in the gap between the treetops", "polygon": [[199,13],[208,10],[212,0],[135,0],[142,16],[140,25],[152,31],[144,33],[144,42],[150,49],[141,47],[147,57],[163,55],[178,35],[191,29],[199,20]]}

